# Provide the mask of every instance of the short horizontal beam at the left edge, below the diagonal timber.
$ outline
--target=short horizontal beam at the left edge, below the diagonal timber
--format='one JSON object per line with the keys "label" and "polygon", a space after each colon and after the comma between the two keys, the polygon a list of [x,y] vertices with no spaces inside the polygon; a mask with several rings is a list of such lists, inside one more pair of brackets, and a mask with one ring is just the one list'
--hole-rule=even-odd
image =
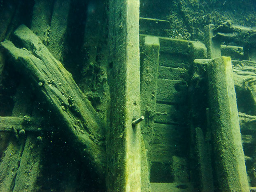
{"label": "short horizontal beam at the left edge, below the diagonal timber", "polygon": [[29,116],[20,117],[0,117],[0,131],[40,131],[42,120],[30,118]]}

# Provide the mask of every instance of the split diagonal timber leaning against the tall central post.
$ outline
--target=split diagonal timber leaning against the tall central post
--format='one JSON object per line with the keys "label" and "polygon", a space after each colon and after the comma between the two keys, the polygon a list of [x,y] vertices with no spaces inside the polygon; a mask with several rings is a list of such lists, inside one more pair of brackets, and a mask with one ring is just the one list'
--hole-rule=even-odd
{"label": "split diagonal timber leaning against the tall central post", "polygon": [[71,74],[31,30],[21,25],[14,35],[26,49],[18,49],[10,41],[2,42],[2,47],[38,88],[42,100],[58,117],[73,147],[103,176],[106,158],[103,143],[105,122],[98,117]]}

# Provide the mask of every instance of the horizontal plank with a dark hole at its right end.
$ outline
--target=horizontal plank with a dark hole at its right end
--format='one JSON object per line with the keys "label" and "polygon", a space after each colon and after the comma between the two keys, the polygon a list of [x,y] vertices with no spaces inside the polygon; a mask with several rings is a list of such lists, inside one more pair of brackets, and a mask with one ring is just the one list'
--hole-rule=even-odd
{"label": "horizontal plank with a dark hole at its right end", "polygon": [[186,101],[186,83],[184,81],[158,79],[156,101],[168,104]]}

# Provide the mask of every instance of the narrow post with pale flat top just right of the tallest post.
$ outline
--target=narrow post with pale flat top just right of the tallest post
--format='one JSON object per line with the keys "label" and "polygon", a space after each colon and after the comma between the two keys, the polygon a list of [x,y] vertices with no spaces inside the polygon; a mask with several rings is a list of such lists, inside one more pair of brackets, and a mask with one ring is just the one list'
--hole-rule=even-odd
{"label": "narrow post with pale flat top just right of the tallest post", "polygon": [[146,119],[141,123],[142,135],[147,149],[148,166],[151,165],[154,115],[156,113],[156,84],[158,76],[159,39],[140,35],[140,98],[141,113]]}

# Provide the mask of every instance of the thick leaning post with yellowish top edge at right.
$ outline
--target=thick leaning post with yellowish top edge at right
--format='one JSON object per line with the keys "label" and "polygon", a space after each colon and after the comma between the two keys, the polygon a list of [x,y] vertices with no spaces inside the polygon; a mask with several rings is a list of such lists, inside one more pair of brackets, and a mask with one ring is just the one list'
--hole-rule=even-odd
{"label": "thick leaning post with yellowish top edge at right", "polygon": [[216,190],[249,192],[231,59],[213,59],[207,65],[207,73],[209,120],[218,181]]}

